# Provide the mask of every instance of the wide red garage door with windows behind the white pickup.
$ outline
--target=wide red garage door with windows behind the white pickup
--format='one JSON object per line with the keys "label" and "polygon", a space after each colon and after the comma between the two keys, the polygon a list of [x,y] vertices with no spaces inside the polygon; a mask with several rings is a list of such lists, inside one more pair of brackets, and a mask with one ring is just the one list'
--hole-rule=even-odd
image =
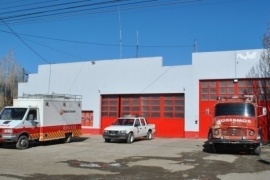
{"label": "wide red garage door with windows behind the white pickup", "polygon": [[156,136],[184,137],[184,94],[102,95],[101,130],[120,116],[144,116]]}

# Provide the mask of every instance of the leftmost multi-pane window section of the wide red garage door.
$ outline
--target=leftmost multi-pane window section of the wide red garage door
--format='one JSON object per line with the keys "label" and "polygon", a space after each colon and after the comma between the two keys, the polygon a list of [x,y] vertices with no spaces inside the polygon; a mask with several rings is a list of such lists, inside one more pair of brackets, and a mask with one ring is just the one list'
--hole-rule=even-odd
{"label": "leftmost multi-pane window section of the wide red garage door", "polygon": [[118,96],[104,96],[101,101],[102,117],[118,117]]}

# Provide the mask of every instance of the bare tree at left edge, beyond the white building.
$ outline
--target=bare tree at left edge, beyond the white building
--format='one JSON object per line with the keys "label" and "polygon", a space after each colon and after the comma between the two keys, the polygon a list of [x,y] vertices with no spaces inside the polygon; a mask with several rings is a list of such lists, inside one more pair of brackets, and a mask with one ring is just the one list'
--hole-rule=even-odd
{"label": "bare tree at left edge, beyond the white building", "polygon": [[12,105],[13,99],[18,95],[18,83],[23,81],[23,76],[23,68],[16,62],[12,51],[0,59],[0,109]]}

